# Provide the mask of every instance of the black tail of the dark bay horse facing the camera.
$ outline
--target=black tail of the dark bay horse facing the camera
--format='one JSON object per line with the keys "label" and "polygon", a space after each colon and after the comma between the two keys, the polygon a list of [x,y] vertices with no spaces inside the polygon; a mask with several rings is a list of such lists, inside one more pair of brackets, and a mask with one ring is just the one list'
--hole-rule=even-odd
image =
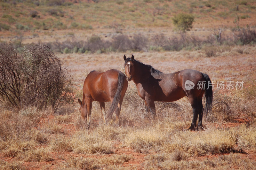
{"label": "black tail of the dark bay horse facing the camera", "polygon": [[210,80],[210,77],[205,74],[205,73],[202,73],[203,76],[204,76],[204,80],[206,81],[206,86],[205,86],[205,94],[204,94],[204,100],[205,101],[205,106],[204,106],[204,113],[206,113],[206,116],[207,116],[207,113],[209,111],[212,110],[212,81]]}

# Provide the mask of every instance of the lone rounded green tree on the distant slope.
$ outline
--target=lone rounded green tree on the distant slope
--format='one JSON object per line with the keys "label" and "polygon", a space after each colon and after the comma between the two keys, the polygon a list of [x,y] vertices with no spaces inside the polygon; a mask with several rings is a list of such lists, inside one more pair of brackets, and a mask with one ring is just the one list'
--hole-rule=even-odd
{"label": "lone rounded green tree on the distant slope", "polygon": [[177,27],[180,31],[186,32],[190,31],[193,27],[192,23],[194,21],[194,16],[185,13],[179,13],[178,15],[172,18],[173,24]]}

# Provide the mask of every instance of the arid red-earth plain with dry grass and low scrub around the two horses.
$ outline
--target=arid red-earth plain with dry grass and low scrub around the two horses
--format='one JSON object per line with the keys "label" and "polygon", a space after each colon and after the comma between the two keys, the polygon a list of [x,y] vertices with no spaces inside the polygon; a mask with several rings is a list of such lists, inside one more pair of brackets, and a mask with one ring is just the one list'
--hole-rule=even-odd
{"label": "arid red-earth plain with dry grass and low scrub around the two horses", "polygon": [[[195,17],[191,31],[175,28],[180,12]],[[72,101],[58,109],[17,109],[1,98],[0,169],[255,169],[255,17],[256,3],[242,0],[0,1],[1,45],[48,45],[73,83]],[[94,101],[88,130],[77,102],[84,79],[92,70],[124,72],[124,54],[164,73],[208,74],[215,84],[204,129],[188,130],[187,97],[156,102],[152,119],[130,81],[119,126],[115,114],[104,125]]]}

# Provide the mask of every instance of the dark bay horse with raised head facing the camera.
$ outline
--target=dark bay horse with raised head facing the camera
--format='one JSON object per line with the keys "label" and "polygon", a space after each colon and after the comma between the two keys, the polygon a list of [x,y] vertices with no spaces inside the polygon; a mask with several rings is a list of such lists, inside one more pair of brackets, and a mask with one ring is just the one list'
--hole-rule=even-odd
{"label": "dark bay horse with raised head facing the camera", "polygon": [[[136,84],[139,96],[145,100],[147,112],[156,116],[154,101],[173,102],[187,96],[194,114],[189,129],[195,130],[198,115],[198,127],[202,127],[203,112],[207,114],[212,107],[212,82],[207,74],[191,69],[162,73],[134,59],[133,55],[131,58],[124,55],[124,61],[127,80]],[[198,84],[202,87],[198,88]],[[202,103],[204,93],[205,110]]]}

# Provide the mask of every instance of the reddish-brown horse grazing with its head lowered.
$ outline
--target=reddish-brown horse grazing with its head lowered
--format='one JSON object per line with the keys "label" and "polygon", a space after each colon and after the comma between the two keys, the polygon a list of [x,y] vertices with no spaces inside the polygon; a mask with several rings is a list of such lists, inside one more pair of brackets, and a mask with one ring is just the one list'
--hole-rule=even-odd
{"label": "reddish-brown horse grazing with its head lowered", "polygon": [[107,119],[116,113],[116,124],[119,125],[119,114],[123,103],[124,95],[128,87],[126,76],[119,70],[108,70],[100,73],[91,71],[84,80],[83,100],[78,99],[80,112],[83,119],[87,119],[88,128],[90,127],[90,117],[92,101],[100,103],[100,110],[103,121],[106,124],[105,103],[111,102],[107,113]]}

